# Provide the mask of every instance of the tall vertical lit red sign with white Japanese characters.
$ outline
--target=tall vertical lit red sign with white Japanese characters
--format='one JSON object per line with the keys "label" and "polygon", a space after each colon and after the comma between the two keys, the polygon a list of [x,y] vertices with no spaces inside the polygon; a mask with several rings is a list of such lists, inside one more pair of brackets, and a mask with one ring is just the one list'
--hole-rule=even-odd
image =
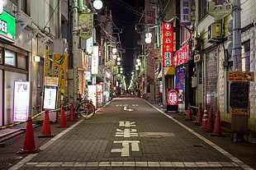
{"label": "tall vertical lit red sign with white Japanese characters", "polygon": [[163,23],[163,67],[173,67],[173,23]]}

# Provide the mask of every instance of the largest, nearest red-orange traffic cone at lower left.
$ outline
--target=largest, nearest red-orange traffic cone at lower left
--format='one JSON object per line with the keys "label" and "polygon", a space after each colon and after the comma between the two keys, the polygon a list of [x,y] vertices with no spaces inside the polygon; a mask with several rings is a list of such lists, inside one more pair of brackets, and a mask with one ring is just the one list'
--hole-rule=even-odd
{"label": "largest, nearest red-orange traffic cone at lower left", "polygon": [[40,149],[36,149],[32,118],[28,117],[26,122],[26,135],[23,149],[17,151],[17,154],[35,154],[39,153]]}

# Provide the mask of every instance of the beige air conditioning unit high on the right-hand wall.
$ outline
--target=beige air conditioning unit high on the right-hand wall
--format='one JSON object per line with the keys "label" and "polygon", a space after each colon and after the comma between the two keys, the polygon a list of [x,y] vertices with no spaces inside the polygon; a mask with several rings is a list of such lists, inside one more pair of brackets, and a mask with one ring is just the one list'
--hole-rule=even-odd
{"label": "beige air conditioning unit high on the right-hand wall", "polygon": [[208,27],[208,40],[220,41],[221,39],[221,24],[213,23]]}

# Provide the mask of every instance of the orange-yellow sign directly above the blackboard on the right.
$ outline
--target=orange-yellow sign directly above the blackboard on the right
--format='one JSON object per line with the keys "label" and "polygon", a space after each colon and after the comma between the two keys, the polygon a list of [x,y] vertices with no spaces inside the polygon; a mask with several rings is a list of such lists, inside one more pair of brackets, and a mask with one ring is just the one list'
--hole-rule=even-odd
{"label": "orange-yellow sign directly above the blackboard on the right", "polygon": [[254,81],[254,72],[229,71],[228,80],[232,81]]}

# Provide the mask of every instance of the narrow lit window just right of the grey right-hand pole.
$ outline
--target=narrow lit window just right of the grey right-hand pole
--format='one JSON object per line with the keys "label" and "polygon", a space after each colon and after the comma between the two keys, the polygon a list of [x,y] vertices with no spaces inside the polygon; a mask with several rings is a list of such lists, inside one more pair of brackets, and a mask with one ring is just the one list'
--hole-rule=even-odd
{"label": "narrow lit window just right of the grey right-hand pole", "polygon": [[250,71],[249,49],[249,42],[242,44],[242,71]]}

